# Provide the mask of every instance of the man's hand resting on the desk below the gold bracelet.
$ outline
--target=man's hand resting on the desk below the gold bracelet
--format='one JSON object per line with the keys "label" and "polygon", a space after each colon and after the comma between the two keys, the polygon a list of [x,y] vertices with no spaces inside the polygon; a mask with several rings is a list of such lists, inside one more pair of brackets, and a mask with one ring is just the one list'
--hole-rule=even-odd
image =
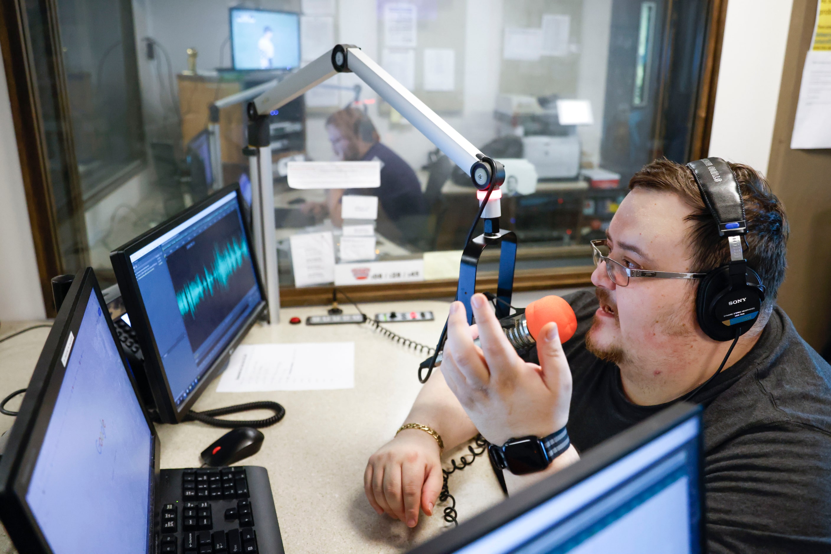
{"label": "man's hand resting on the desk below the gold bracelet", "polygon": [[439,444],[420,429],[404,429],[369,458],[364,492],[375,511],[416,527],[419,507],[428,516],[441,492]]}

